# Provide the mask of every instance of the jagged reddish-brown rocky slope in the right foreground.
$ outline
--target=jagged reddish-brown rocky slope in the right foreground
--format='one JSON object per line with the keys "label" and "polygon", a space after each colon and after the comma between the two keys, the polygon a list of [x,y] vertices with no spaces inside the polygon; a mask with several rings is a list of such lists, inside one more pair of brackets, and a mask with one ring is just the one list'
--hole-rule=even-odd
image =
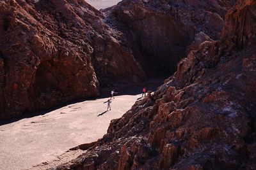
{"label": "jagged reddish-brown rocky slope in the right foreground", "polygon": [[153,96],[77,159],[54,169],[256,169],[256,1],[228,11]]}

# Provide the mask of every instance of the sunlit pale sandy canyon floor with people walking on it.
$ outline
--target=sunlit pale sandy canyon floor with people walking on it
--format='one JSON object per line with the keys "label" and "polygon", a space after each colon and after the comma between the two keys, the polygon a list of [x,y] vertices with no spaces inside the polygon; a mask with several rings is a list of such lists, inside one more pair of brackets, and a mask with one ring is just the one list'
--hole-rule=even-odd
{"label": "sunlit pale sandy canyon floor with people walking on it", "polygon": [[[1,125],[0,169],[28,169],[58,160],[58,155],[74,146],[97,141],[106,134],[110,121],[122,117],[140,96],[116,96],[112,110],[99,117],[106,111],[104,102],[108,98],[70,104],[45,115]],[[81,150],[65,154],[74,159],[80,153]]]}

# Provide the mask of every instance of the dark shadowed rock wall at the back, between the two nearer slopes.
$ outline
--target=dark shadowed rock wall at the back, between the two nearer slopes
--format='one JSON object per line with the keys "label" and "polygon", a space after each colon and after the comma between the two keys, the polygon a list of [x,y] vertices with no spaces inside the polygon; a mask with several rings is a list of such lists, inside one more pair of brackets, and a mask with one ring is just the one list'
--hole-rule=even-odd
{"label": "dark shadowed rock wall at the back, between the two nearer slopes", "polygon": [[173,74],[195,34],[220,37],[229,1],[124,0],[104,12],[107,23],[125,32],[148,76]]}

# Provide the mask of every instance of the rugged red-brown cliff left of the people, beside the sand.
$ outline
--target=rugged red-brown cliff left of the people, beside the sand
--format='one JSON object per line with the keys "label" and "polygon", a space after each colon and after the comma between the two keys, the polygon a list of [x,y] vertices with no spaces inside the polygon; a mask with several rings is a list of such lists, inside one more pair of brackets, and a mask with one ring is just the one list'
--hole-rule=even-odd
{"label": "rugged red-brown cliff left of the people, beside the sand", "polygon": [[85,1],[1,1],[0,119],[145,80],[103,18]]}

